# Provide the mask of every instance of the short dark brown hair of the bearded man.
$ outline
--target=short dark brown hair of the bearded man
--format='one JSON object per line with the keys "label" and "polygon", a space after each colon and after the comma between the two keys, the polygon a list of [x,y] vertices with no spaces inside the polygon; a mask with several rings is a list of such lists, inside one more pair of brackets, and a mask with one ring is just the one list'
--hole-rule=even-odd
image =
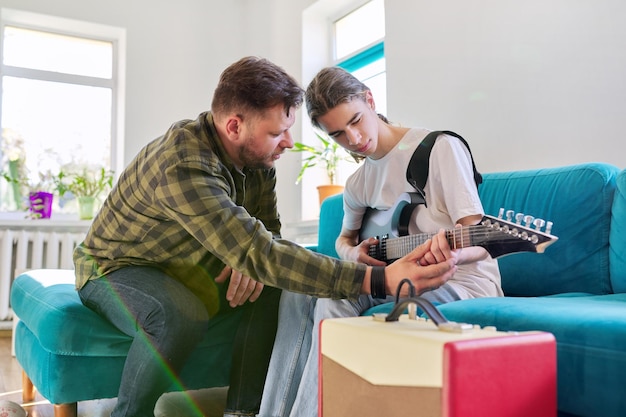
{"label": "short dark brown hair of the bearded man", "polygon": [[215,115],[236,112],[262,115],[282,104],[289,114],[302,105],[304,90],[281,67],[264,58],[245,57],[222,72],[213,94],[211,111]]}

